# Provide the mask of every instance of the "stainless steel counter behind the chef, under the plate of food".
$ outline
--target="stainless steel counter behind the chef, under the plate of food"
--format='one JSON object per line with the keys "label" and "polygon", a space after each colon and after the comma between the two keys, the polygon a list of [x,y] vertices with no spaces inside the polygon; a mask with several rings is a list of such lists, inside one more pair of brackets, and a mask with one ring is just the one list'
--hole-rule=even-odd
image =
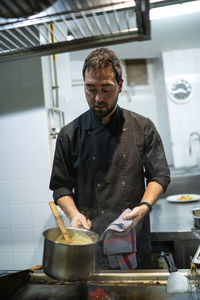
{"label": "stainless steel counter behind the chef, under the plate of food", "polygon": [[162,198],[151,212],[151,240],[153,261],[161,251],[171,252],[178,268],[189,268],[190,258],[200,244],[191,229],[194,228],[193,208],[200,208],[200,201],[172,203]]}

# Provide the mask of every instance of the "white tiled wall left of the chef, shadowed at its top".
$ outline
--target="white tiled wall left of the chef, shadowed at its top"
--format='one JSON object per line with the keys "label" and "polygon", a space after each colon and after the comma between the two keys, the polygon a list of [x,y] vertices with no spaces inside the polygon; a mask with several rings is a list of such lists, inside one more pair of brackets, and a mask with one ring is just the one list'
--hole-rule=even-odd
{"label": "white tiled wall left of the chef, shadowed at its top", "polygon": [[42,263],[51,159],[41,60],[0,64],[0,270]]}

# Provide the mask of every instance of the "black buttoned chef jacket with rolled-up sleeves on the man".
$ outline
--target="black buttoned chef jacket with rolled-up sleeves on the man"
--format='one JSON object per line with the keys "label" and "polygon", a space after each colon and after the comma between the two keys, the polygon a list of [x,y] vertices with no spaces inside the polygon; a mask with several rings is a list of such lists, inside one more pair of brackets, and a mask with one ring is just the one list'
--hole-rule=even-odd
{"label": "black buttoned chef jacket with rolled-up sleeves on the man", "polygon": [[[55,202],[71,195],[95,232],[137,206],[150,181],[165,191],[170,175],[161,138],[148,118],[118,106],[107,124],[88,110],[61,129],[50,189]],[[148,215],[144,223],[149,234]]]}

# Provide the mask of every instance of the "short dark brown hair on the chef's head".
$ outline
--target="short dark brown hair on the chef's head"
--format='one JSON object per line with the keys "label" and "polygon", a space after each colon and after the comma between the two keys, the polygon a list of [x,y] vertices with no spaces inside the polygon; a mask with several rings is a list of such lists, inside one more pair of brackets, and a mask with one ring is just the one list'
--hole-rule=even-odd
{"label": "short dark brown hair on the chef's head", "polygon": [[83,78],[85,80],[85,71],[99,71],[101,69],[113,67],[117,83],[122,79],[121,61],[114,51],[108,48],[100,48],[92,51],[85,59],[83,65]]}

